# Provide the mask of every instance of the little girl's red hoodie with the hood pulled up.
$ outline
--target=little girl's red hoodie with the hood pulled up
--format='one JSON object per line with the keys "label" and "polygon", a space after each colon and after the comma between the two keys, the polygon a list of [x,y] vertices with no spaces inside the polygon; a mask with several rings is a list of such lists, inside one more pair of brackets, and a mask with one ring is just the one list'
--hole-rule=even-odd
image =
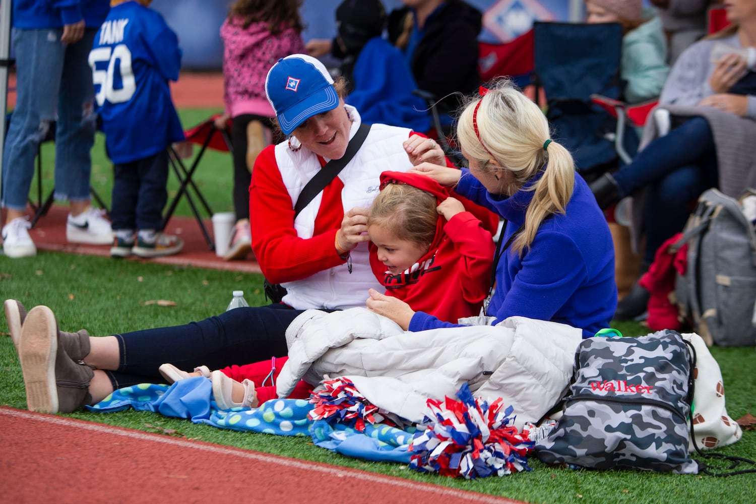
{"label": "little girl's red hoodie with the hood pulled up", "polygon": [[[438,203],[450,196],[445,187],[425,175],[383,172],[381,185],[392,179],[431,193]],[[472,206],[467,199],[454,197],[466,208]],[[447,322],[479,314],[491,281],[494,240],[472,213],[460,212],[450,221],[439,215],[428,252],[404,273],[387,273],[376,251],[370,243],[370,266],[386,287],[386,295]]]}

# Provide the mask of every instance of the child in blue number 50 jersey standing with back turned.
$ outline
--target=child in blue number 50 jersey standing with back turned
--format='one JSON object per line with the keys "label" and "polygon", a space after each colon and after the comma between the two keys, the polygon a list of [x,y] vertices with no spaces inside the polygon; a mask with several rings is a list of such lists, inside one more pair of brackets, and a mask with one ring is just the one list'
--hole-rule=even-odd
{"label": "child in blue number 50 jersey standing with back turned", "polygon": [[169,88],[169,81],[178,80],[181,50],[150,3],[113,0],[89,54],[113,161],[113,257],[170,255],[184,246],[160,231],[168,199],[166,149],[184,140]]}

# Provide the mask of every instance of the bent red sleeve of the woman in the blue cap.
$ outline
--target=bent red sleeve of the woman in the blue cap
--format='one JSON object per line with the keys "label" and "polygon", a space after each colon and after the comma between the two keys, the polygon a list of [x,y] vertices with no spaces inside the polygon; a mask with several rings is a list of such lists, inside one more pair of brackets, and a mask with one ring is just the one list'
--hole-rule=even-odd
{"label": "bent red sleeve of the woman in the blue cap", "polygon": [[278,171],[274,149],[274,145],[265,147],[255,160],[249,184],[249,222],[252,249],[262,274],[272,283],[281,283],[302,280],[344,261],[333,246],[338,228],[306,240],[296,236],[294,205]]}

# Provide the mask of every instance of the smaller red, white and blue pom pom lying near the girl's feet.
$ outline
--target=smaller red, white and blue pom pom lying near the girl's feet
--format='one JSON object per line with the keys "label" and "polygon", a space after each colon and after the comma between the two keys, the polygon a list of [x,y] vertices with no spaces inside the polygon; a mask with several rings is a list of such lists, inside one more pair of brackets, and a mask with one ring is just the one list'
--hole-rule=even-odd
{"label": "smaller red, white and blue pom pom lying near the girl's feet", "polygon": [[365,422],[383,423],[395,427],[398,417],[380,410],[370,403],[351,380],[343,377],[323,382],[325,388],[313,393],[310,402],[315,407],[308,413],[311,420],[329,419],[349,424],[354,421],[357,431],[365,430]]}

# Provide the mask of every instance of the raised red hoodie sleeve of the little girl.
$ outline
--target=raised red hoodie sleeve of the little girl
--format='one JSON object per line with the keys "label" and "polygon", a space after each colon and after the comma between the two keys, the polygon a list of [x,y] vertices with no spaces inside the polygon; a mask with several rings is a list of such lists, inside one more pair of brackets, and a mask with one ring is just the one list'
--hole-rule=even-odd
{"label": "raised red hoodie sleeve of the little girl", "polygon": [[488,295],[491,265],[494,262],[494,240],[470,212],[460,212],[444,226],[444,232],[459,253],[457,263],[460,289],[469,303],[479,303]]}

